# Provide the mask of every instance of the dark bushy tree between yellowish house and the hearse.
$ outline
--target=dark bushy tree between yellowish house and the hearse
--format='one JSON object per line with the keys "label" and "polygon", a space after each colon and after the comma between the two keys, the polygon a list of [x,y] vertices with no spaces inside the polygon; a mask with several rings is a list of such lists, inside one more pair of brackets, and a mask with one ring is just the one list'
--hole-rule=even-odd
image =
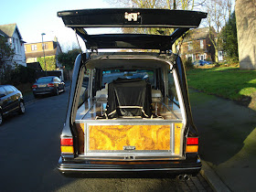
{"label": "dark bushy tree between yellowish house and the hearse", "polygon": [[73,48],[66,53],[60,53],[58,60],[63,66],[65,66],[66,69],[73,69],[75,59],[79,54],[80,48]]}

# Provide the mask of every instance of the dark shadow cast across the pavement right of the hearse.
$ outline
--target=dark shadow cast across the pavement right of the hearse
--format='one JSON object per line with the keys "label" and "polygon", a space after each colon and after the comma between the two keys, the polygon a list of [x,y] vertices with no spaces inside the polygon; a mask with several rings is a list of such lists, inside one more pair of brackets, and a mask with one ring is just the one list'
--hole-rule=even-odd
{"label": "dark shadow cast across the pavement right of the hearse", "polygon": [[247,138],[256,129],[255,111],[193,90],[189,90],[189,96],[202,159],[219,165],[237,155],[245,145],[253,151],[255,143]]}

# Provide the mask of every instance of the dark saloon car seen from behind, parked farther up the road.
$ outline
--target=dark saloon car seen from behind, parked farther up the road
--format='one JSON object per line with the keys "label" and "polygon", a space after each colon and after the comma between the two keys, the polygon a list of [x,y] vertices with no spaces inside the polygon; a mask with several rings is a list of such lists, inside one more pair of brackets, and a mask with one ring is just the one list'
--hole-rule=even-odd
{"label": "dark saloon car seen from behind, parked farther up the road", "polygon": [[43,77],[33,84],[32,90],[35,98],[42,94],[59,95],[59,92],[65,91],[65,82],[56,76]]}

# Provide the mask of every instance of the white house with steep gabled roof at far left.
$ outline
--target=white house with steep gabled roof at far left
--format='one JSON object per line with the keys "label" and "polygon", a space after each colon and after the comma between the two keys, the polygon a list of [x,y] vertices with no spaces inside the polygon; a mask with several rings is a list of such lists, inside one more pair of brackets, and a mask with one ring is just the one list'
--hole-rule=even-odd
{"label": "white house with steep gabled roof at far left", "polygon": [[15,55],[13,60],[7,60],[6,63],[14,66],[14,64],[27,67],[24,43],[16,24],[0,25],[0,35],[7,39],[7,44],[14,49]]}

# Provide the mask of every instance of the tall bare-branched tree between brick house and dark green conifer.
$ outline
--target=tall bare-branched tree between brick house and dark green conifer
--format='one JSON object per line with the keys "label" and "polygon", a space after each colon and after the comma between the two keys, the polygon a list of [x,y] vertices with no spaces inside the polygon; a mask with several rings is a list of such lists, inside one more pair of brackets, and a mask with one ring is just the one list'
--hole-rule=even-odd
{"label": "tall bare-branched tree between brick house and dark green conifer", "polygon": [[232,3],[231,0],[208,0],[206,7],[208,10],[209,38],[215,48],[215,61],[219,62],[218,53],[223,42],[220,31],[229,20]]}

